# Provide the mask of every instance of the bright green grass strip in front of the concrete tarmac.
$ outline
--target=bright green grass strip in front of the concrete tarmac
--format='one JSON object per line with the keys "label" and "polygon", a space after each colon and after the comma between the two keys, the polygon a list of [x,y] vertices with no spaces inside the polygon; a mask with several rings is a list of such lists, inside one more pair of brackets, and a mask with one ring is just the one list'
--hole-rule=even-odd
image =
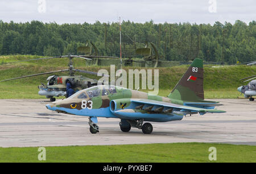
{"label": "bright green grass strip in front of the concrete tarmac", "polygon": [[[209,160],[210,147],[216,161]],[[38,147],[0,148],[0,162],[256,162],[256,146],[217,143],[46,147],[46,161],[39,154]]]}

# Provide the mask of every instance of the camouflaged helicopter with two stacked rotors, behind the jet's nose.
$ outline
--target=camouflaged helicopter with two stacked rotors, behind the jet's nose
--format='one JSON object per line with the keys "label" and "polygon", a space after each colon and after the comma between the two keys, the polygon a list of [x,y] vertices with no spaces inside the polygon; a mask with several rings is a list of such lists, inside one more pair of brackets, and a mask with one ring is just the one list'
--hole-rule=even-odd
{"label": "camouflaged helicopter with two stacked rotors, behind the jet's nose", "polygon": [[56,100],[54,97],[60,97],[60,96],[67,96],[67,83],[70,82],[72,89],[74,92],[78,92],[81,89],[86,89],[90,88],[92,86],[98,85],[98,80],[88,78],[88,77],[83,77],[83,76],[75,76],[75,72],[81,72],[81,73],[88,73],[88,74],[94,74],[97,76],[105,76],[108,77],[106,74],[101,74],[101,73],[96,73],[96,72],[91,72],[91,71],[85,71],[81,69],[74,69],[73,68],[73,58],[81,58],[85,60],[92,60],[93,58],[111,58],[111,59],[119,59],[119,57],[109,57],[109,56],[88,56],[88,55],[65,55],[65,56],[55,56],[55,57],[44,57],[44,58],[39,58],[39,59],[30,59],[30,60],[21,60],[21,61],[13,61],[9,63],[4,63],[4,64],[10,64],[10,63],[19,63],[22,61],[32,61],[32,60],[43,60],[43,59],[62,59],[67,57],[69,59],[69,64],[68,64],[68,69],[63,69],[59,71],[52,71],[52,72],[44,72],[44,73],[38,73],[38,74],[31,74],[27,76],[22,76],[22,77],[15,77],[15,78],[9,78],[3,81],[9,81],[9,80],[16,80],[19,78],[25,78],[25,77],[32,77],[32,76],[40,76],[43,74],[51,74],[51,73],[57,73],[57,72],[68,72],[69,76],[57,76],[57,75],[52,75],[47,78],[47,84],[41,84],[38,86],[39,92],[38,94],[40,96],[46,96],[46,98],[50,98],[50,101],[53,102]]}

